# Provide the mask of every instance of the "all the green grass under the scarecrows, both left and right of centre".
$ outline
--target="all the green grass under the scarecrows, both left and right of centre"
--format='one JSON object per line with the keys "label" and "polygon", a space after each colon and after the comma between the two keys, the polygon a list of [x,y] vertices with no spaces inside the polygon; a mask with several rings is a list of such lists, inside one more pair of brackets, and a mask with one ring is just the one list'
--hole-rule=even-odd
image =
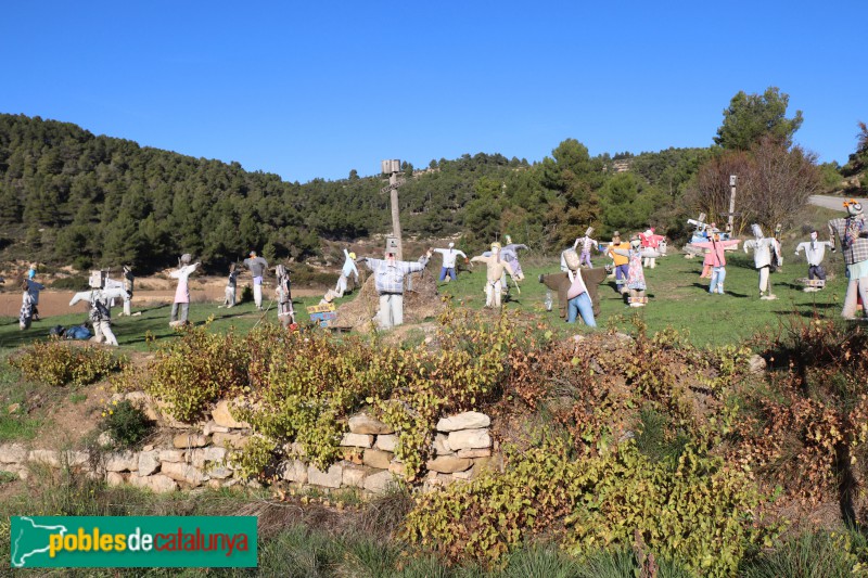
{"label": "all the green grass under the scarecrows, both left and right of centre", "polygon": [[[794,248],[805,237],[806,235],[795,235],[795,239],[784,239],[784,266],[771,275],[774,292],[778,297],[776,300],[758,298],[758,275],[753,267],[753,256],[745,255],[741,249],[728,254],[725,295],[709,294],[709,281],[699,278],[702,269],[701,258],[686,259],[684,255],[674,254],[658,259],[655,269],[646,269],[649,304],[644,308],[626,307],[615,290],[614,280],[603,283],[600,286],[601,314],[597,323],[601,327],[613,325],[627,330],[633,325],[630,320],[636,314],[643,320],[651,332],[673,326],[679,331],[689,331],[692,342],[697,345],[715,346],[737,343],[757,332],[780,331],[781,323],[791,314],[838,316],[845,292],[841,257],[827,253],[825,265],[830,273],[827,287],[818,293],[804,293],[797,280],[806,277],[807,265],[804,257],[795,257]],[[539,316],[561,335],[588,331],[580,324],[567,325],[558,318],[557,295],[553,297],[556,301],[553,310],[545,310],[547,288],[537,278],[540,273],[558,272],[558,261],[533,255],[523,260],[525,281],[521,284],[521,293],[514,286],[511,290],[510,300],[506,305],[510,314]],[[607,260],[604,257],[595,257],[595,267],[602,267]],[[434,259],[429,267],[430,271],[436,274],[438,265],[438,260]],[[481,309],[485,304],[484,273],[481,267],[463,272],[456,282],[441,283],[441,292],[450,295],[459,307]],[[354,299],[355,296],[356,294],[350,294],[339,299],[339,306]],[[317,301],[316,297],[294,301],[299,322],[308,321],[305,308]],[[140,317],[115,318],[114,332],[120,346],[145,350],[148,336],[157,343],[174,338],[175,332],[168,326],[169,309],[167,305],[152,307],[142,310]],[[277,308],[271,304],[270,309],[263,314],[256,311],[252,303],[232,309],[219,309],[216,304],[191,305],[192,322],[203,323],[209,318],[213,318],[212,326],[215,331],[234,327],[237,331],[246,332],[260,322],[277,322]],[[81,313],[52,317],[36,322],[30,330],[22,332],[18,330],[17,320],[3,318],[0,320],[0,349],[14,349],[34,339],[43,338],[53,325],[67,326],[84,321],[85,316]]]}

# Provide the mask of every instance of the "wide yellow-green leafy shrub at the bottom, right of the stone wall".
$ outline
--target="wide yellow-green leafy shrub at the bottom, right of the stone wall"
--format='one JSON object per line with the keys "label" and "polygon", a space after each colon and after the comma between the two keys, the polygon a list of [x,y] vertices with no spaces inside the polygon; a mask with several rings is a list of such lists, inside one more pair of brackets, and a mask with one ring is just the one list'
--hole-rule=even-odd
{"label": "wide yellow-green leafy shrub at the bottom, right of the stone wall", "polygon": [[508,460],[502,473],[421,497],[406,537],[452,561],[490,565],[542,534],[582,556],[628,547],[638,531],[658,557],[730,576],[751,544],[770,544],[777,531],[754,515],[760,494],[746,477],[694,446],[676,464],[651,462],[631,441],[580,462],[569,441]]}

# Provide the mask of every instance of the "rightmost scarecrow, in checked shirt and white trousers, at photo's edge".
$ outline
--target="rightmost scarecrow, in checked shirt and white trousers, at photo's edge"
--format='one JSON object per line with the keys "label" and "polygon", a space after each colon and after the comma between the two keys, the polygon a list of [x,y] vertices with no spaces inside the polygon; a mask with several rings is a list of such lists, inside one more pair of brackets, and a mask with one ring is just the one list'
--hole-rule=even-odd
{"label": "rightmost scarecrow, in checked shirt and white trousers, at photo's edge", "polygon": [[861,296],[863,304],[868,304],[868,226],[859,203],[853,200],[845,201],[844,208],[847,210],[847,217],[830,220],[829,235],[832,251],[835,236],[841,241],[841,253],[850,279],[841,317],[855,319],[857,294]]}

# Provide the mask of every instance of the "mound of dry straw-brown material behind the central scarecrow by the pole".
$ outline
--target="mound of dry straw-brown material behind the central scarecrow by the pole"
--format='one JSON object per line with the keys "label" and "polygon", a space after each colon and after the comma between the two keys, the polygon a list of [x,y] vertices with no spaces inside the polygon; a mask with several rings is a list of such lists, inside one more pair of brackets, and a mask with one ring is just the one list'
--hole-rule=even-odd
{"label": "mound of dry straw-brown material behind the central scarecrow by the pole", "polygon": [[[412,288],[404,291],[404,323],[420,323],[425,318],[442,313],[446,305],[437,292],[434,275],[424,270],[409,277],[408,287]],[[374,326],[375,321],[372,323],[372,320],[379,309],[380,297],[374,288],[373,275],[369,275],[356,298],[337,308],[335,325],[366,333]]]}

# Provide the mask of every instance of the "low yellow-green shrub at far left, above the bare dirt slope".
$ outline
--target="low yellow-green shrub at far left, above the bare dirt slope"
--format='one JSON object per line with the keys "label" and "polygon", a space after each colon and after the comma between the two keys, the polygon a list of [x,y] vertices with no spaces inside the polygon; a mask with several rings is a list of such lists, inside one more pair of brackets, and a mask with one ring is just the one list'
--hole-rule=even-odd
{"label": "low yellow-green shrub at far left, above the bare dirt slope", "polygon": [[115,357],[92,346],[76,346],[56,338],[35,343],[9,363],[31,381],[60,387],[88,385],[127,365],[126,357]]}

